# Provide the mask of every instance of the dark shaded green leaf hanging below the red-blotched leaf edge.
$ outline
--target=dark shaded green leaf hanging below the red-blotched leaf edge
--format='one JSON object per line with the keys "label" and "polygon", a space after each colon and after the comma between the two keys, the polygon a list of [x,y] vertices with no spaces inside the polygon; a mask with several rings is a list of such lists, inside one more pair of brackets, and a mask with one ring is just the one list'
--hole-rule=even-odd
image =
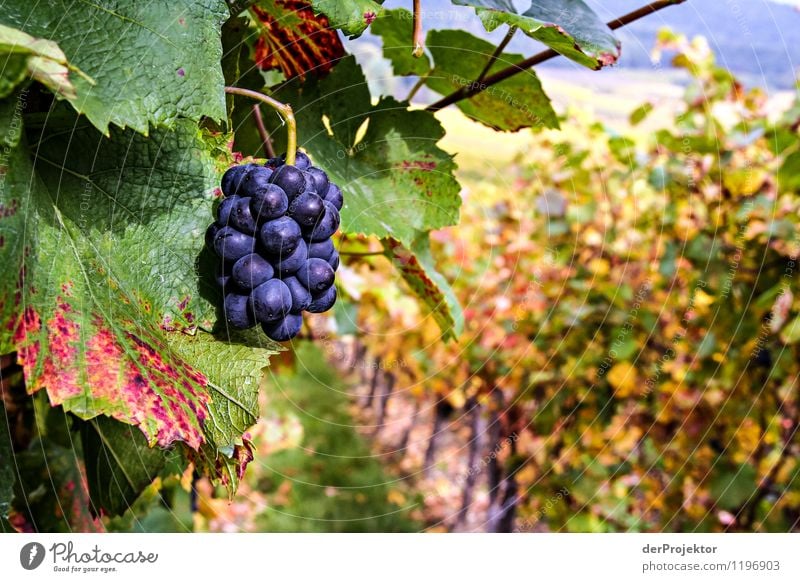
{"label": "dark shaded green leaf hanging below the red-blotched leaf edge", "polygon": [[106,416],[81,423],[81,443],[92,507],[107,515],[125,513],[172,454],[148,447],[138,429]]}

